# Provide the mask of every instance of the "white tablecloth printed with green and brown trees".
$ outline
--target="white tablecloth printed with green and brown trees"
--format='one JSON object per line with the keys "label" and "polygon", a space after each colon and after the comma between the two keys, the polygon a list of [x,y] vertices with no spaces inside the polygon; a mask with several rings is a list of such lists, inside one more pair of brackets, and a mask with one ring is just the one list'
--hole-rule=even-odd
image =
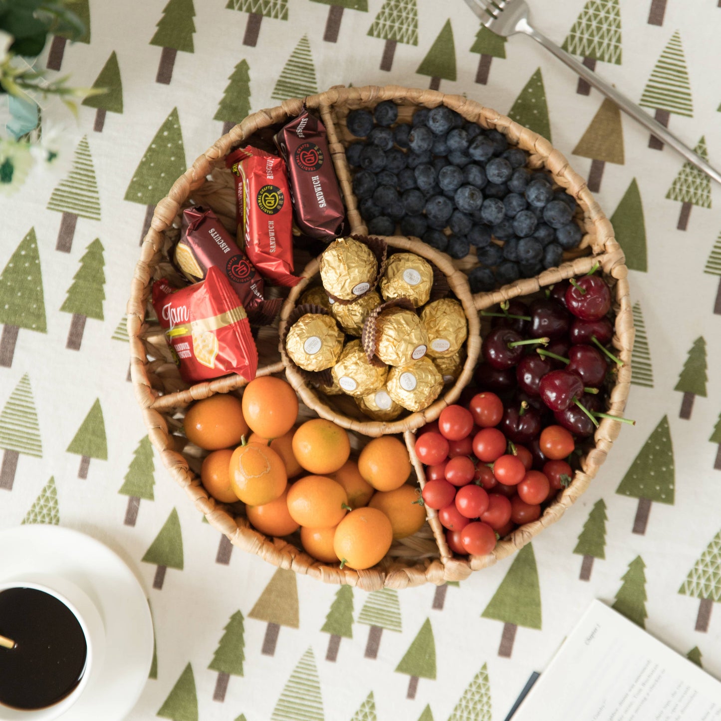
{"label": "white tablecloth printed with green and brown trees", "polygon": [[[716,0],[531,5],[721,164]],[[461,0],[76,7],[86,36],[53,38],[40,63],[110,92],[78,123],[49,105],[63,151],[0,195],[0,527],[60,523],[131,559],[156,655],[128,718],[503,721],[592,598],[721,676],[721,220],[707,177],[531,40],[479,29]],[[510,112],[588,177],[630,269],[637,425],[516,556],[460,585],[368,594],[277,570],[201,522],[146,436],[124,313],[154,205],[224,128],[286,97],[389,82]],[[0,181],[14,190],[1,168]]]}

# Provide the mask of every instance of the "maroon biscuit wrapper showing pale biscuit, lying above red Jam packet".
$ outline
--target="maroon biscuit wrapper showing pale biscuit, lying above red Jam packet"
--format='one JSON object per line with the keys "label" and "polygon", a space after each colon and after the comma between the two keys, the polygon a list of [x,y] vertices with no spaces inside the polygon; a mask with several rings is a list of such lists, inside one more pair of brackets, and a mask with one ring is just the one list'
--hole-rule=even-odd
{"label": "maroon biscuit wrapper showing pale biscuit, lying above red Jam packet", "polygon": [[280,311],[280,298],[265,299],[262,276],[210,208],[199,205],[182,214],[182,231],[173,253],[177,267],[198,283],[215,265],[228,278],[251,322],[268,325]]}

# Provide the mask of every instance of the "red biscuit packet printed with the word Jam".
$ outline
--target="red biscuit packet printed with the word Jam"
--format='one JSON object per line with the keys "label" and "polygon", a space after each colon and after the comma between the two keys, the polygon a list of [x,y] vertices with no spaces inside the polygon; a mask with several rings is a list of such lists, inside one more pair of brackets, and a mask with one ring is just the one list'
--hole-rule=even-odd
{"label": "red biscuit packet printed with the word Jam", "polygon": [[153,307],[186,383],[229,373],[255,378],[258,351],[247,315],[217,267],[208,268],[205,280],[179,291],[164,278],[156,280]]}

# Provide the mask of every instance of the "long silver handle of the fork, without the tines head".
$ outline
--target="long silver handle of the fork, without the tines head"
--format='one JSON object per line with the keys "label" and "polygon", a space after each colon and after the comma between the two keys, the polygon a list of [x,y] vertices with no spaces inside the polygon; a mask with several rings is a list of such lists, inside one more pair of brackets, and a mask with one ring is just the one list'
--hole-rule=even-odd
{"label": "long silver handle of the fork, without the tines head", "polygon": [[658,120],[655,120],[655,118],[652,118],[651,115],[645,112],[645,110],[642,110],[634,102],[631,102],[625,95],[621,94],[609,83],[598,77],[596,73],[590,71],[585,65],[583,65],[583,63],[579,63],[576,58],[570,56],[567,52],[565,52],[565,50],[559,48],[556,43],[549,40],[548,37],[536,30],[535,27],[528,25],[528,22],[525,19],[521,19],[518,22],[516,30],[518,32],[525,32],[526,35],[533,37],[537,43],[543,45],[546,50],[553,53],[560,61],[566,63],[566,65],[572,70],[575,70],[576,73],[578,73],[589,85],[595,87],[597,90],[606,95],[606,97],[613,100],[627,115],[630,115],[645,128],[648,128],[648,130],[650,130],[664,143],[668,143],[668,145],[676,149],[679,153],[681,153],[681,155],[696,165],[696,167],[702,169],[704,173],[709,175],[709,177],[712,177],[716,182],[721,183],[721,173],[710,166],[701,156],[694,153],[689,146],[682,143],[675,135],[673,135],[673,133],[669,132],[668,128],[665,128],[658,122]]}

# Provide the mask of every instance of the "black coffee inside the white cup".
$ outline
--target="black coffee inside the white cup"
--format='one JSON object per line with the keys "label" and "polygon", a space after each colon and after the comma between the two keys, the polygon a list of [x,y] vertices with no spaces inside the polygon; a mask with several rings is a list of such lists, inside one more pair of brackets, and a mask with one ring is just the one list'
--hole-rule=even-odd
{"label": "black coffee inside the white cup", "polygon": [[87,657],[85,634],[55,596],[35,588],[0,591],[0,634],[17,644],[0,648],[0,703],[43,709],[79,684]]}

